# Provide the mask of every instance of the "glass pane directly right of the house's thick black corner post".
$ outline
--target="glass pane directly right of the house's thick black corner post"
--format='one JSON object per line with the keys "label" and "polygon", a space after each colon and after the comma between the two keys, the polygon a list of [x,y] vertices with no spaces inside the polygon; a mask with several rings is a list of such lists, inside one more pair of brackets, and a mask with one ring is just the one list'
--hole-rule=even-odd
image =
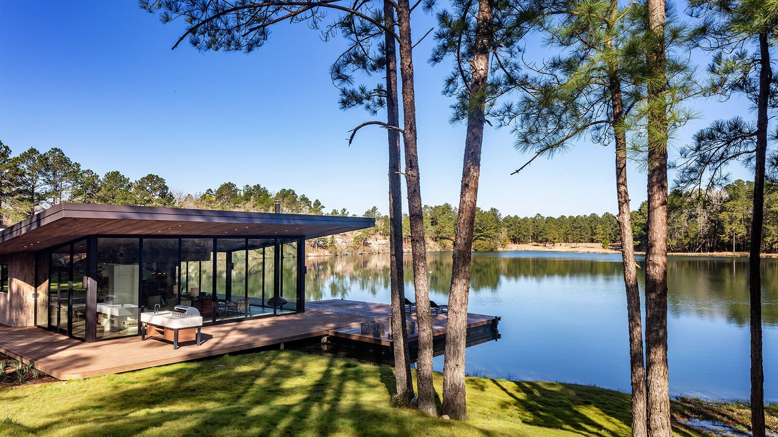
{"label": "glass pane directly right of the house's thick black corner post", "polygon": [[97,239],[96,338],[138,334],[139,240]]}

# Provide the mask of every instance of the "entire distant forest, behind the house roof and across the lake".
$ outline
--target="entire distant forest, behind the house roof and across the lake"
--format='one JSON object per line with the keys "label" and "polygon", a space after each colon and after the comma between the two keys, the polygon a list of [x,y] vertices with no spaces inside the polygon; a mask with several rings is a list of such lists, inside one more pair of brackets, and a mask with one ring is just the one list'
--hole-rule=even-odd
{"label": "entire distant forest, behind the house roof and across the lake", "polygon": [[[774,187],[769,187],[774,188]],[[716,190],[671,191],[669,197],[668,249],[674,252],[745,251],[750,241],[753,183],[734,180]],[[102,177],[82,169],[61,149],[40,152],[30,148],[13,156],[0,142],[0,208],[2,221],[9,225],[44,208],[69,201],[113,205],[174,206],[179,208],[230,209],[272,212],[281,201],[282,212],[291,214],[350,215],[345,208],[327,212],[318,199],[284,188],[269,191],[260,184],[238,187],[226,182],[200,194],[170,190],[165,179],[149,174],[131,180],[119,171]],[[615,201],[614,201],[615,203]],[[632,212],[637,247],[646,243],[646,202]],[[352,232],[351,246],[370,246],[371,240],[388,238],[389,220],[377,207],[363,216],[376,218],[376,227]],[[457,211],[452,205],[424,207],[426,236],[442,248],[454,241]],[[778,190],[769,190],[765,198],[765,229],[762,250],[778,252]],[[403,233],[410,237],[408,217]],[[341,239],[342,240],[342,239]],[[562,215],[559,217],[503,216],[496,208],[478,209],[475,216],[474,250],[497,250],[509,243],[601,243],[603,247],[620,244],[619,224],[611,213]],[[335,237],[311,242],[335,251]]]}

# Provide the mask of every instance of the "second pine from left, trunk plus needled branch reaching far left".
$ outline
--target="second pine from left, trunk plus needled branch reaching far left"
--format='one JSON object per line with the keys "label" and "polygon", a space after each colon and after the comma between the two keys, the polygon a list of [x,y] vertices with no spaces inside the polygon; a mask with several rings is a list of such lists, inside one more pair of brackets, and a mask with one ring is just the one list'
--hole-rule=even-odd
{"label": "second pine from left, trunk plus needled branch reaching far left", "polygon": [[[418,5],[419,3],[416,3]],[[353,20],[354,23],[369,23],[391,35],[398,44],[399,69],[401,75],[401,97],[403,125],[401,133],[405,148],[405,182],[408,189],[408,216],[411,227],[411,248],[413,276],[416,293],[416,316],[419,329],[419,409],[427,414],[436,414],[432,371],[432,316],[429,312],[429,289],[427,286],[426,242],[422,217],[422,196],[419,176],[419,156],[416,133],[416,105],[414,88],[413,46],[411,37],[411,13],[415,9],[408,0],[392,2],[397,13],[397,25],[384,23],[384,2],[307,2],[281,0],[279,2],[239,2],[226,0],[213,2],[191,2],[170,0],[152,2],[141,0],[140,6],[149,12],[159,12],[163,23],[180,18],[187,23],[187,30],[173,45],[177,47],[188,38],[198,50],[223,50],[251,52],[268,40],[268,28],[275,23],[291,21],[307,23],[316,29],[324,29],[324,39],[342,29],[340,23]],[[345,14],[335,23],[324,25],[326,11]],[[399,127],[398,127],[399,128]]]}

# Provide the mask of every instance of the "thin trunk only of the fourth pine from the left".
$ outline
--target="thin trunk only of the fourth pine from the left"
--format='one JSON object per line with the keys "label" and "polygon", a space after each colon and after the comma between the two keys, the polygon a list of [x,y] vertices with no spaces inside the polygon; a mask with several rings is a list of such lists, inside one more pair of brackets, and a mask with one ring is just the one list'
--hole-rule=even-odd
{"label": "thin trunk only of the fourth pine from the left", "polygon": [[629,327],[629,369],[632,385],[632,435],[647,435],[646,421],[646,369],[643,365],[643,322],[640,318],[640,288],[637,283],[635,246],[633,245],[632,215],[629,212],[627,188],[627,138],[624,126],[622,83],[619,78],[619,58],[613,50],[615,26],[619,19],[619,2],[611,0],[611,16],[608,23],[608,50],[611,52],[608,86],[611,93],[613,133],[616,145],[616,198],[619,203],[619,231],[622,239],[622,264],[627,298],[627,322]]}

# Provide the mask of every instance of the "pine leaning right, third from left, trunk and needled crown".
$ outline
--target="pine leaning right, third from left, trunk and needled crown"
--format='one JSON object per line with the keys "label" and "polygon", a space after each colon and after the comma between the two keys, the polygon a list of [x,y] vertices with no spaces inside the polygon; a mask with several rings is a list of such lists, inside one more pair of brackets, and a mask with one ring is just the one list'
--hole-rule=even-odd
{"label": "pine leaning right, third from left, trunk and needled crown", "polygon": [[456,99],[451,121],[466,122],[443,363],[443,413],[450,418],[467,418],[464,359],[484,125],[499,96],[524,83],[518,60],[524,35],[520,11],[516,2],[455,0],[450,11],[437,14],[437,45],[430,61],[454,60],[443,93]]}

